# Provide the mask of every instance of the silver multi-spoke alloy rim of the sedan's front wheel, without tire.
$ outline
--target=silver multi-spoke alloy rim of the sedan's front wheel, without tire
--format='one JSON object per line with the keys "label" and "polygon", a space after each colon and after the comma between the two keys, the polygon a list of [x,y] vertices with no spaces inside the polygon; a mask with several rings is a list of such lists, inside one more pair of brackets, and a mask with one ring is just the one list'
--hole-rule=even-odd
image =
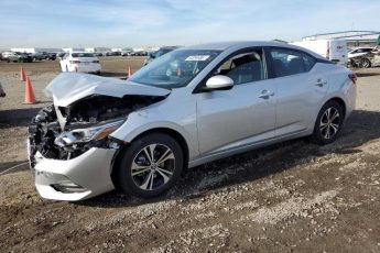
{"label": "silver multi-spoke alloy rim of the sedan's front wheel, without tire", "polygon": [[165,185],[173,176],[175,156],[163,144],[150,144],[141,148],[131,164],[133,183],[142,190],[155,190]]}

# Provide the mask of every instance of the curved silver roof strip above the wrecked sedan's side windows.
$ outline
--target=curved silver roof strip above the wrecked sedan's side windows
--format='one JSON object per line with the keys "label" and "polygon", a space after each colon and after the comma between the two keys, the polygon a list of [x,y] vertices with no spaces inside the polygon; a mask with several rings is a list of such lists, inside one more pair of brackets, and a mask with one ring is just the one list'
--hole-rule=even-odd
{"label": "curved silver roof strip above the wrecked sedan's side windows", "polygon": [[217,42],[217,43],[207,43],[207,44],[199,44],[194,46],[187,46],[180,50],[215,50],[215,51],[227,51],[227,50],[239,50],[245,47],[254,47],[254,46],[274,46],[274,47],[286,47],[303,51],[313,55],[316,58],[323,58],[322,55],[314,53],[307,48],[291,45],[284,42],[274,42],[274,41],[237,41],[237,42]]}

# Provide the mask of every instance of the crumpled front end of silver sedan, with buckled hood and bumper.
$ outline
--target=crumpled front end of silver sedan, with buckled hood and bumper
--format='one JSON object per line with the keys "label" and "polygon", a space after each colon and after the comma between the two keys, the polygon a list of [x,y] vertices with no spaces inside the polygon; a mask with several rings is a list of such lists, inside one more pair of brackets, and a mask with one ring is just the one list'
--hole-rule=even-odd
{"label": "crumpled front end of silver sedan, with buckled hood and bumper", "polygon": [[29,127],[29,160],[43,198],[80,200],[113,188],[111,166],[123,143],[110,134],[166,90],[86,74],[59,75],[46,88],[54,105]]}

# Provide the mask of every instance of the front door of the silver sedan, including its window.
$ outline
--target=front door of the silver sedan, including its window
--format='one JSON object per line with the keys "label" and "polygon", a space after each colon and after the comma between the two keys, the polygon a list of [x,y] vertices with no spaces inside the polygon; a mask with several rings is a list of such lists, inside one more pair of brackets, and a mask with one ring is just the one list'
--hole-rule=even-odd
{"label": "front door of the silver sedan, including its window", "polygon": [[275,84],[268,79],[262,50],[227,58],[217,75],[230,77],[230,90],[197,94],[200,155],[207,156],[272,139]]}

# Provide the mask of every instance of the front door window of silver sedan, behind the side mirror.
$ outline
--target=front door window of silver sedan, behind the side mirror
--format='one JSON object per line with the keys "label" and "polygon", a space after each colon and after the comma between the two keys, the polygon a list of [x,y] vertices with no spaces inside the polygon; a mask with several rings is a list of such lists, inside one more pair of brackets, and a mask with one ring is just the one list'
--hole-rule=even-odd
{"label": "front door window of silver sedan, behind the side mirror", "polygon": [[235,85],[263,80],[267,78],[262,51],[252,51],[225,61],[215,75],[225,75],[234,80]]}

